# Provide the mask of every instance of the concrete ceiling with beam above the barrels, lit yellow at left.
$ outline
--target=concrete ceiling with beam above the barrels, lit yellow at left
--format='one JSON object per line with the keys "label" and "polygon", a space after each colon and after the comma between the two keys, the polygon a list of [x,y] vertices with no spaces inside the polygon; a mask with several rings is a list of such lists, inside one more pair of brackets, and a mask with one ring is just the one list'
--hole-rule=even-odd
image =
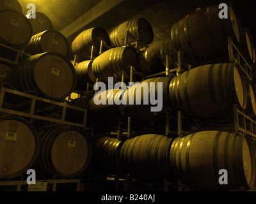
{"label": "concrete ceiling with beam above the barrels, lit yellow at left", "polygon": [[192,13],[196,8],[214,4],[232,3],[241,18],[242,25],[249,27],[256,38],[256,6],[248,1],[218,0],[19,0],[26,14],[28,3],[36,5],[36,11],[45,13],[53,25],[72,43],[74,38],[90,27],[111,30],[132,17],[144,17],[152,25],[154,41],[170,38],[172,25]]}

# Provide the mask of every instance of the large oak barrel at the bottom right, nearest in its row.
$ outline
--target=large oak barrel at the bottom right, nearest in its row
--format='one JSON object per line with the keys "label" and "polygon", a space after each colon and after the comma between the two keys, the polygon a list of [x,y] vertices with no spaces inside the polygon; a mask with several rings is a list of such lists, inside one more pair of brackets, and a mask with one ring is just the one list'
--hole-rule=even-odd
{"label": "large oak barrel at the bottom right, nearest in its row", "polygon": [[[255,157],[246,136],[202,131],[175,138],[170,168],[186,184],[210,191],[228,191],[255,185]],[[228,184],[220,185],[219,171],[228,172]]]}

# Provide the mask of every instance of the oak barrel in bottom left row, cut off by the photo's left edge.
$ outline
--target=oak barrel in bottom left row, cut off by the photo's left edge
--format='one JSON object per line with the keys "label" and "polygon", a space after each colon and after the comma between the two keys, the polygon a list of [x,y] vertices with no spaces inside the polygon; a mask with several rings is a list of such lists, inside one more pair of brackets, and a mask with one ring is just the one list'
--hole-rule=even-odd
{"label": "oak barrel in bottom left row, cut off by the photo's left edge", "polygon": [[38,133],[19,117],[0,119],[0,179],[13,179],[35,163],[39,152]]}

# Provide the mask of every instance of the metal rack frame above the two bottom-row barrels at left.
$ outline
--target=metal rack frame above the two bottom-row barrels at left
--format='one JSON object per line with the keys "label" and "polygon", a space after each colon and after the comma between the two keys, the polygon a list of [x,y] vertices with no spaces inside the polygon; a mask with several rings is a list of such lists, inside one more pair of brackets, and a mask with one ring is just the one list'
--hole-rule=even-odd
{"label": "metal rack frame above the two bottom-row barrels at left", "polygon": [[[12,94],[12,97],[19,99],[19,97],[26,98],[28,100],[29,111],[20,111],[19,106],[22,104],[13,105],[12,103],[6,102],[6,95]],[[35,94],[35,93],[34,93]],[[49,99],[41,98],[35,96],[34,94],[29,94],[27,92],[19,92],[8,84],[3,84],[1,87],[0,92],[0,112],[12,114],[12,115],[19,115],[21,117],[28,117],[29,119],[38,119],[38,120],[45,120],[49,122],[56,122],[58,124],[68,125],[68,126],[76,126],[79,128],[86,128],[86,116],[87,116],[87,109],[86,108],[79,108],[76,106],[68,105],[67,103],[61,103],[57,101],[52,101]],[[61,118],[56,119],[54,117],[50,117],[48,115],[38,115],[36,114],[36,103],[44,103],[47,105],[55,105],[61,108]],[[6,106],[7,103],[7,106]],[[18,110],[17,110],[18,108]],[[80,122],[71,122],[67,119],[67,110],[76,110],[83,113],[83,121]]]}

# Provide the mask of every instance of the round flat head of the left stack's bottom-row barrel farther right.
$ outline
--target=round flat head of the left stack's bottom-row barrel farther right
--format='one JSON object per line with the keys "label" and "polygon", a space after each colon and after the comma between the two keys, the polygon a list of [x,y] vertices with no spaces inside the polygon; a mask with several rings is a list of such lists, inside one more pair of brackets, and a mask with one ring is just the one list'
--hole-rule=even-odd
{"label": "round flat head of the left stack's bottom-row barrel farther right", "polygon": [[88,166],[90,150],[90,143],[81,133],[76,130],[62,131],[52,143],[52,165],[60,175],[72,177]]}

